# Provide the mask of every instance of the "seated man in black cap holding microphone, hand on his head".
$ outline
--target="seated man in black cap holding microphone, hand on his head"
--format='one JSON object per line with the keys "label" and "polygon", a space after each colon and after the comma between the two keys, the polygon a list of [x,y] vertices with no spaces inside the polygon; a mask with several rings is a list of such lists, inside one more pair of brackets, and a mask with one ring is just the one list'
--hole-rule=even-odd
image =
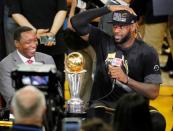
{"label": "seated man in black cap holding microphone, hand on his head", "polygon": [[[113,16],[108,23],[113,25],[113,36],[88,24],[110,11]],[[132,9],[109,5],[80,13],[71,18],[71,23],[96,52],[91,106],[113,108],[122,95],[130,92],[138,92],[147,99],[159,95],[162,80],[158,55],[152,47],[136,38],[136,15]]]}

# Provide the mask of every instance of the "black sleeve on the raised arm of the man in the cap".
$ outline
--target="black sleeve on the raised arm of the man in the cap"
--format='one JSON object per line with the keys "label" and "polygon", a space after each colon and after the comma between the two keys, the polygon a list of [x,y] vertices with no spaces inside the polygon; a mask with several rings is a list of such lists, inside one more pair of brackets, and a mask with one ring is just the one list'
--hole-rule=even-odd
{"label": "black sleeve on the raised arm of the man in the cap", "polygon": [[76,32],[80,36],[82,36],[90,32],[89,22],[91,22],[91,20],[93,20],[94,18],[100,17],[104,14],[107,14],[109,12],[110,11],[108,10],[107,7],[90,9],[73,16],[70,21],[73,28],[76,30]]}

